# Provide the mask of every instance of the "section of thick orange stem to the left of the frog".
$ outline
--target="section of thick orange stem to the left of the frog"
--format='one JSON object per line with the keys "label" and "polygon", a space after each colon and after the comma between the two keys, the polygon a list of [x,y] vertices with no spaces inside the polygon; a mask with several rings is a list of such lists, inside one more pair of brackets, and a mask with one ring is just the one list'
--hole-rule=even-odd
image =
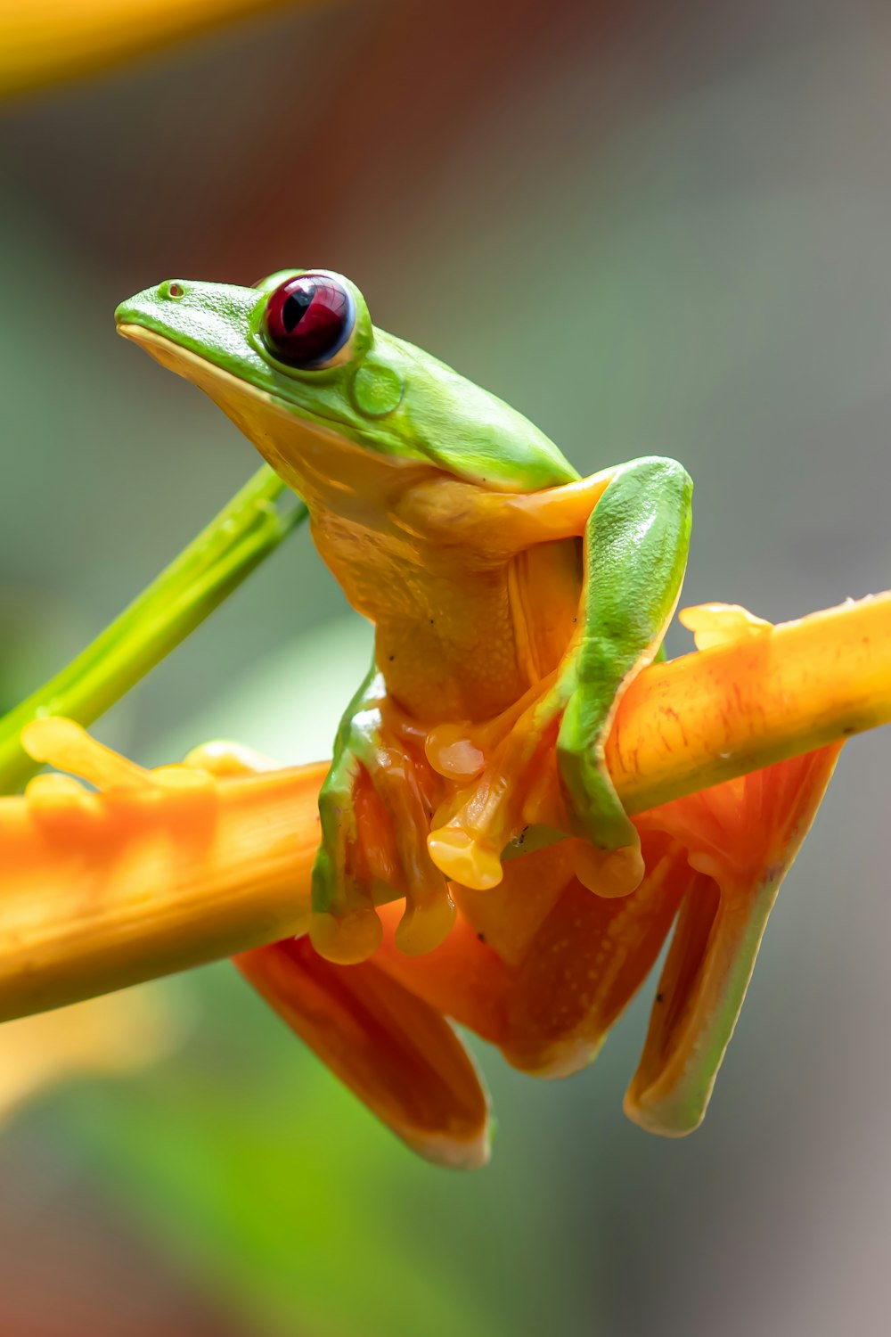
{"label": "section of thick orange stem to the left of the frog", "polygon": [[0,1020],[303,933],[326,770],[0,798]]}

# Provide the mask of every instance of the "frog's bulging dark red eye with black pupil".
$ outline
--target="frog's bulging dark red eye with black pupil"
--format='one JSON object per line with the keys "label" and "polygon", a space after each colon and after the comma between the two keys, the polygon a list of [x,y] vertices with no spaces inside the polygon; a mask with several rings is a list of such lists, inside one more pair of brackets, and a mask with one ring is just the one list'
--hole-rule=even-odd
{"label": "frog's bulging dark red eye with black pupil", "polygon": [[282,362],[318,368],[343,348],[354,321],[353,298],[335,278],[299,274],[277,287],[269,298],[263,340]]}

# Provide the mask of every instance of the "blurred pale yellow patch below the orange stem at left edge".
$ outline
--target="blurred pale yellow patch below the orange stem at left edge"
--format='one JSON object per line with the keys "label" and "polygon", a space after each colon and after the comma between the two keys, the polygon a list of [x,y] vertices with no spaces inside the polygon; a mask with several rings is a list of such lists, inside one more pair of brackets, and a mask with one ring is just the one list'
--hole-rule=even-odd
{"label": "blurred pale yellow patch below the orange stem at left edge", "polygon": [[130,1072],[167,1054],[180,1019],[158,989],[128,989],[0,1027],[0,1127],[65,1078]]}

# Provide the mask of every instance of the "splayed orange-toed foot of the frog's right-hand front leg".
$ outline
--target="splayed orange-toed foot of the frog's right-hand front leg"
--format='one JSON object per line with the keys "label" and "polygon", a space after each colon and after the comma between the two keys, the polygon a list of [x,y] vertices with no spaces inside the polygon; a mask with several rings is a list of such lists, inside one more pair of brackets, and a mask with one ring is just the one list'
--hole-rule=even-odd
{"label": "splayed orange-toed foot of the frog's right-hand front leg", "polygon": [[644,861],[597,746],[598,721],[586,719],[581,694],[561,682],[549,679],[530,697],[513,718],[484,729],[430,733],[430,763],[458,786],[434,817],[430,856],[452,881],[488,890],[501,882],[504,850],[521,845],[529,826],[557,826],[582,837],[574,846],[582,885],[625,896],[640,884]]}

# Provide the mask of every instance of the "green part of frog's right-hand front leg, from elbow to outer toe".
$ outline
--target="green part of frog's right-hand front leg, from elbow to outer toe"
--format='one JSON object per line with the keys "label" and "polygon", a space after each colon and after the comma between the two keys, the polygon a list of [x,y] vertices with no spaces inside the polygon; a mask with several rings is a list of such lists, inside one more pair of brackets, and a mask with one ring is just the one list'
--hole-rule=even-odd
{"label": "green part of frog's right-hand front leg, from elbow to outer toe", "polygon": [[692,483],[676,460],[618,469],[585,528],[581,631],[556,683],[557,762],[570,822],[601,850],[637,846],[604,763],[621,694],[657,654],[684,578]]}

